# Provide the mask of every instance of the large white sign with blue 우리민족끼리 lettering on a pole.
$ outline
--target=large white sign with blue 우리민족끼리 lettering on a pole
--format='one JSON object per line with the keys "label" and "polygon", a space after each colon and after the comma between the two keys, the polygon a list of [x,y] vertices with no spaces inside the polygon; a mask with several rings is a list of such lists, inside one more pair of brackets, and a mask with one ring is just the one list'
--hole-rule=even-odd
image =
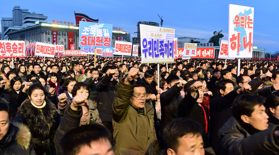
{"label": "large white sign with blue \uc6b0\ub9ac\ubbfc\uc871\ub07c\ub9ac lettering on a pole", "polygon": [[139,24],[141,63],[173,63],[175,29]]}

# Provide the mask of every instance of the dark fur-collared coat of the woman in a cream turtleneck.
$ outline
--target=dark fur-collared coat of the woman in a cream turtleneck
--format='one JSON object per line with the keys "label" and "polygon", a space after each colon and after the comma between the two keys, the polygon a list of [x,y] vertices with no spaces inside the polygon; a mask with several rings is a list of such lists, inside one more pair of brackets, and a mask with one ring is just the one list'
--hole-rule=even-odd
{"label": "dark fur-collared coat of the woman in a cream turtleneck", "polygon": [[29,126],[34,150],[36,154],[55,154],[54,135],[59,122],[55,105],[45,99],[46,106],[41,110],[35,108],[29,99],[26,99],[18,108],[14,122],[23,122]]}

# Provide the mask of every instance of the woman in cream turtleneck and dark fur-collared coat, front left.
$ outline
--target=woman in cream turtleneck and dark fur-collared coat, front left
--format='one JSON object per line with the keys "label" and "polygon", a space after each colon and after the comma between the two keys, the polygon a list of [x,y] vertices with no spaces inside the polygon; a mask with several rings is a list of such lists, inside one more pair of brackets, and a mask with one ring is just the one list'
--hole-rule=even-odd
{"label": "woman in cream turtleneck and dark fur-collared coat, front left", "polygon": [[14,122],[29,126],[36,154],[55,154],[53,139],[58,127],[55,105],[45,98],[41,84],[25,85],[28,99],[18,108]]}

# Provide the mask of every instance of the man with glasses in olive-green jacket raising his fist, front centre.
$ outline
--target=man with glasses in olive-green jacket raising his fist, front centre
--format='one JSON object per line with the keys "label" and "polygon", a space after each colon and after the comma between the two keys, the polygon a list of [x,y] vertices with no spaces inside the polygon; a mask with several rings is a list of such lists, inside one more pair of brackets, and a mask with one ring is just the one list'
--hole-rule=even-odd
{"label": "man with glasses in olive-green jacket raising his fist, front centre", "polygon": [[139,69],[131,68],[122,78],[113,101],[113,142],[115,154],[145,154],[149,144],[156,140],[154,108],[147,100],[156,100],[155,95],[146,95],[142,83],[135,83]]}

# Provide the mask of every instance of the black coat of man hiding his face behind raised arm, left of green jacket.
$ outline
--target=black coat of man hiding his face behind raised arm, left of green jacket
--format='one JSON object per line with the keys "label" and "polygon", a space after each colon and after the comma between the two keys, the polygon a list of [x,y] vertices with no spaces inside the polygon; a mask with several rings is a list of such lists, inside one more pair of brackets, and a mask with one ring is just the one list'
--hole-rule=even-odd
{"label": "black coat of man hiding his face behind raised arm, left of green jacket", "polygon": [[[112,104],[118,89],[118,82],[106,74],[96,85],[99,117],[102,122],[112,122]],[[123,92],[124,93],[124,92]]]}

